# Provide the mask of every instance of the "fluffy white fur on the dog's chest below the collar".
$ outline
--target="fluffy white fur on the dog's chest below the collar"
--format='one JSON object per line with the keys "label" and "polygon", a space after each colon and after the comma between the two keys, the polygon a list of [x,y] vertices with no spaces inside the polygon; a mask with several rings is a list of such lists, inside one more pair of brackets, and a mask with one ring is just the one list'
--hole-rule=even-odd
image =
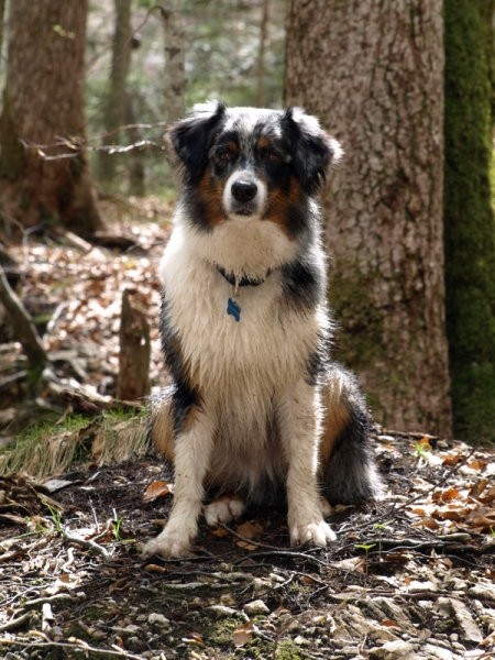
{"label": "fluffy white fur on the dog's chest below the collar", "polygon": [[[169,321],[188,371],[209,400],[232,405],[241,399],[242,405],[264,402],[267,406],[304,374],[317,348],[323,315],[292,310],[283,297],[280,272],[274,270],[263,284],[239,288],[240,321],[235,321],[227,314],[233,286],[198,254],[188,233],[182,227],[174,230],[161,264]],[[294,250],[286,243],[283,251]],[[213,245],[221,256],[221,246]],[[260,270],[250,272],[252,276],[260,277],[282,258],[274,258],[266,246],[265,253],[250,251],[249,245],[244,251],[251,262],[255,254],[266,260],[257,264]]]}

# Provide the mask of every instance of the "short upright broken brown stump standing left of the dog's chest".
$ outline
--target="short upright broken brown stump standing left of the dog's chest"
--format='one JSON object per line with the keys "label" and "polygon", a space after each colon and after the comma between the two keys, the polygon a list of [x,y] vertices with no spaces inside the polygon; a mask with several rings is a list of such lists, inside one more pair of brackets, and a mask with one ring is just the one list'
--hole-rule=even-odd
{"label": "short upright broken brown stump standing left of the dog's chest", "polygon": [[144,300],[124,289],[120,315],[120,354],[117,398],[135,402],[150,394],[150,326]]}

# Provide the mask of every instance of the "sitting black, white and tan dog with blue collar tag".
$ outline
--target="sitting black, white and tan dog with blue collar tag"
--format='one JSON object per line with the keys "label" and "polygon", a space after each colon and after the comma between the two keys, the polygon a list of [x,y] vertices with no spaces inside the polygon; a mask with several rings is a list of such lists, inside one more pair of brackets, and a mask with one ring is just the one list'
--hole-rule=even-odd
{"label": "sitting black, white and tan dog with blue collar tag", "polygon": [[219,101],[197,106],[168,139],[180,175],[160,266],[172,386],[152,435],[175,493],[143,554],[188,554],[201,512],[227,524],[280,496],[292,544],[324,547],[336,538],[328,502],[382,493],[364,398],[329,359],[317,194],[342,150],[300,108]]}

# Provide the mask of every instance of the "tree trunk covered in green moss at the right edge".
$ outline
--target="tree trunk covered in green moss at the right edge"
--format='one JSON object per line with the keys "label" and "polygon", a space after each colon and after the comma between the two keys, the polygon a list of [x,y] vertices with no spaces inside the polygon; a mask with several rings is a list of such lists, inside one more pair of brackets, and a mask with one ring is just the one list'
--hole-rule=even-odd
{"label": "tree trunk covered in green moss at the right edge", "polygon": [[454,430],[495,440],[493,0],[446,0],[446,284]]}

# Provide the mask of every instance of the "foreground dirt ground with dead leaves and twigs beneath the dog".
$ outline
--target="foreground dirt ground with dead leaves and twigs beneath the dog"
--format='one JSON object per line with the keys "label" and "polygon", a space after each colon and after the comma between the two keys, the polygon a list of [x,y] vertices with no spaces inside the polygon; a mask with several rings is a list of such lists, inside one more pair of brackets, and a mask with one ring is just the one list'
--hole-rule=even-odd
{"label": "foreground dirt ground with dead leaves and twigs beneath the dog", "polygon": [[172,495],[156,457],[0,480],[0,656],[482,659],[495,651],[495,454],[380,430],[388,495],[290,548],[283,512],[140,558]]}

